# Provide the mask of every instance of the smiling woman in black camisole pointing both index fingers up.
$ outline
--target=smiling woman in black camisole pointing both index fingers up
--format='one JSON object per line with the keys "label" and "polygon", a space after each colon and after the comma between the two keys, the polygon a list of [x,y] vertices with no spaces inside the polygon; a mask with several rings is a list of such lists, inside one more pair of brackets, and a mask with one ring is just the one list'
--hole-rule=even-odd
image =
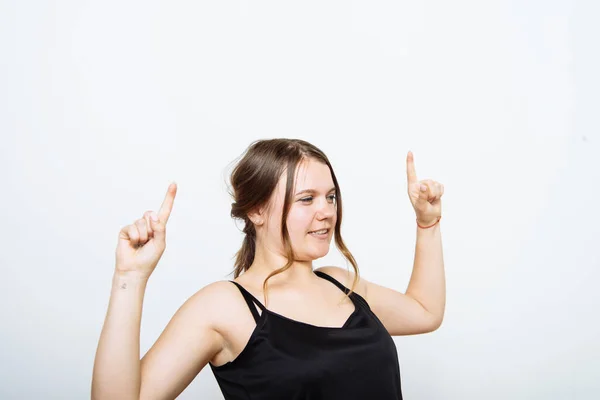
{"label": "smiling woman in black camisole pointing both index fingers up", "polygon": [[[207,285],[175,313],[140,361],[142,301],[162,256],[177,187],[119,234],[113,289],[92,380],[94,399],[173,399],[210,364],[225,399],[401,399],[391,336],[443,319],[443,186],[417,181],[415,266],[406,294],[360,278],[340,233],[342,199],[321,150],[293,139],[253,143],[231,175],[231,215],[245,222],[234,280]],[[330,241],[353,267],[313,270]],[[261,300],[259,300],[261,299]]]}

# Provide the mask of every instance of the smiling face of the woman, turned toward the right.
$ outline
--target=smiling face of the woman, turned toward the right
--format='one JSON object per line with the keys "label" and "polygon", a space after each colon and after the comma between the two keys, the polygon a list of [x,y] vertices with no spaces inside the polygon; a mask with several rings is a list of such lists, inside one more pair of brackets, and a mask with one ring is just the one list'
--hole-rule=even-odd
{"label": "smiling face of the woman, turned toward the right", "polygon": [[[287,228],[292,248],[298,261],[312,261],[324,257],[337,222],[337,200],[331,172],[326,164],[308,159],[298,165],[295,174],[294,195],[287,217]],[[283,173],[271,198],[268,213],[266,245],[269,250],[286,256],[281,240],[281,216],[285,199],[287,172]],[[313,231],[327,229],[324,234]]]}

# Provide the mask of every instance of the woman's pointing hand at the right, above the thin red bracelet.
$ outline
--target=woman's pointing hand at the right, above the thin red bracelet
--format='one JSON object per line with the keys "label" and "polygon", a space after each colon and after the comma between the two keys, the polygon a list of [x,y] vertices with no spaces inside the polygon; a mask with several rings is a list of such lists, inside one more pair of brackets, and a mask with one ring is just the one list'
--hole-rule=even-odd
{"label": "woman's pointing hand at the right, above the thin red bracelet", "polygon": [[412,151],[406,157],[406,173],[408,197],[417,214],[417,222],[425,226],[435,224],[442,216],[444,185],[431,179],[417,180]]}

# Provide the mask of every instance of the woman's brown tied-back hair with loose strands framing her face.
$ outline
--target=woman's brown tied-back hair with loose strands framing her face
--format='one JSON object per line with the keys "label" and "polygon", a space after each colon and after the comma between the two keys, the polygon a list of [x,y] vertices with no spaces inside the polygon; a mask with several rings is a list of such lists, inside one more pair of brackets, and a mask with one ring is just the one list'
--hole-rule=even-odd
{"label": "woman's brown tied-back hair with loose strands framing her face", "polygon": [[251,143],[246,149],[243,157],[235,165],[230,176],[232,189],[230,195],[234,200],[231,203],[231,217],[243,220],[245,223],[243,229],[245,237],[242,247],[236,253],[233,275],[234,278],[237,278],[242,272],[247,271],[252,265],[256,253],[256,229],[250,218],[248,218],[248,214],[262,207],[268,208],[270,205],[269,199],[277,186],[279,177],[287,169],[286,193],[283,203],[283,214],[281,216],[281,238],[288,261],[283,267],[271,272],[265,279],[263,283],[265,304],[267,302],[267,281],[272,276],[287,270],[295,259],[286,221],[293,202],[293,183],[296,168],[302,161],[307,159],[322,162],[331,171],[331,177],[336,190],[337,204],[335,244],[354,268],[354,282],[350,293],[354,291],[359,280],[356,260],[342,240],[342,194],[331,163],[325,153],[313,144],[300,139],[257,140]]}

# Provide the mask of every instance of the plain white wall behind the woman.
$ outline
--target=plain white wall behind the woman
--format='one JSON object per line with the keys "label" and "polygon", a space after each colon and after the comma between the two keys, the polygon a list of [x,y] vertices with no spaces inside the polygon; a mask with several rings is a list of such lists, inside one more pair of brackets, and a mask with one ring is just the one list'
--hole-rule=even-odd
{"label": "plain white wall behind the woman", "polygon": [[[329,156],[364,278],[405,291],[406,154],[445,185],[447,307],[406,399],[600,391],[598,3],[1,1],[0,398],[84,399],[122,226],[179,191],[141,352],[232,279],[254,140]],[[346,267],[334,245],[315,266]],[[181,399],[222,399],[206,367]]]}

